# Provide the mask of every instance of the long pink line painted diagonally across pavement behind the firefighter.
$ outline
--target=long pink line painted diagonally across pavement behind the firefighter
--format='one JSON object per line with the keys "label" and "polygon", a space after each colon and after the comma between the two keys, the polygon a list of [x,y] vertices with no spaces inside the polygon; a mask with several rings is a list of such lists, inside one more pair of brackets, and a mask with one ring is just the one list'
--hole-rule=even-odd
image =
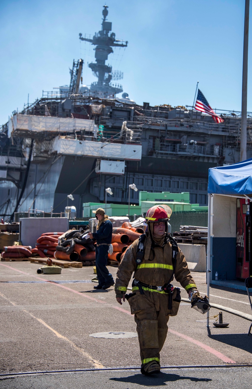
{"label": "long pink line painted diagonally across pavement behind the firefighter", "polygon": [[[50,280],[45,280],[44,278],[42,277],[37,277],[35,275],[32,275],[32,274],[29,274],[29,273],[25,273],[25,272],[22,272],[21,270],[17,270],[15,268],[13,268],[12,266],[8,266],[8,265],[3,265],[3,263],[0,263],[0,265],[2,266],[5,266],[9,269],[12,269],[12,270],[15,270],[16,272],[19,272],[19,273],[22,273],[22,274],[26,274],[26,275],[29,275],[30,277],[33,277],[33,278],[36,278],[38,280],[44,280],[44,281],[47,281],[47,282],[50,282]],[[102,300],[97,300],[96,298],[93,298],[93,297],[90,297],[90,296],[87,296],[86,294],[83,294],[83,293],[80,293],[78,291],[75,291],[74,289],[71,289],[71,288],[68,288],[66,286],[63,286],[63,285],[60,285],[60,284],[55,284],[54,282],[50,282],[51,285],[54,285],[54,286],[58,286],[58,287],[61,287],[63,289],[66,289],[70,292],[73,292],[73,293],[76,293],[76,294],[79,294],[80,296],[82,297],[85,297],[85,298],[88,298],[89,300],[93,300],[93,301],[96,301],[98,303],[105,303],[105,304],[108,304],[106,303],[105,301],[102,301]],[[118,311],[121,311],[123,313],[126,313],[127,315],[130,315],[131,316],[131,312],[127,311],[126,309],[123,309],[123,308],[120,308],[120,307],[116,307],[115,305],[110,305],[111,308],[114,308],[114,309],[117,309]],[[190,336],[187,336],[187,335],[184,335],[184,334],[181,334],[177,331],[173,331],[173,329],[168,329],[168,331],[170,331],[171,333],[173,333],[174,335],[177,335],[179,336],[180,338],[184,338],[185,340],[187,340],[188,342],[191,342],[191,343],[194,343],[196,344],[197,346],[201,347],[202,349],[210,352],[211,354],[215,355],[216,357],[218,357],[219,359],[221,359],[223,362],[226,362],[226,363],[236,363],[235,361],[233,361],[232,359],[230,359],[229,357],[226,357],[224,354],[222,354],[221,352],[213,349],[212,347],[204,344],[204,343],[201,343],[199,342],[198,340],[196,339],[193,339],[191,338]]]}

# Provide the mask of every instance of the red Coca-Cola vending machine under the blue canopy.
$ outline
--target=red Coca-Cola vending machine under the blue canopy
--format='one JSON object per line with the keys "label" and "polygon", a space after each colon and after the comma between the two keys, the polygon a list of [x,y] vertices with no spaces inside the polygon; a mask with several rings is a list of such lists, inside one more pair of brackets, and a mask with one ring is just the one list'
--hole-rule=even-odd
{"label": "red Coca-Cola vending machine under the blue canopy", "polygon": [[250,266],[251,238],[250,215],[252,207],[248,199],[238,198],[236,203],[236,277],[244,280],[252,272]]}

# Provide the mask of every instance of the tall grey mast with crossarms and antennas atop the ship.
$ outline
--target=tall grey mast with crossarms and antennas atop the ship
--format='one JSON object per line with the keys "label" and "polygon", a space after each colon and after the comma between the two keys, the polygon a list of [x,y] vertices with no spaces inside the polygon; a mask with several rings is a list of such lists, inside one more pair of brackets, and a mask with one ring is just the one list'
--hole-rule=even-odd
{"label": "tall grey mast with crossarms and antennas atop the ship", "polygon": [[110,81],[122,79],[123,73],[116,71],[112,73],[112,67],[106,65],[105,61],[108,59],[108,55],[113,53],[112,47],[127,47],[128,42],[115,39],[115,33],[112,30],[112,23],[108,22],[106,17],[108,16],[108,6],[103,5],[103,21],[101,23],[101,31],[95,33],[93,39],[82,37],[82,33],[79,33],[79,39],[86,42],[90,42],[95,45],[95,58],[96,63],[89,63],[89,68],[92,69],[94,75],[98,78],[97,82],[91,84],[90,90],[97,92],[107,92],[108,94],[115,95],[122,92],[122,86],[119,84],[110,84]]}

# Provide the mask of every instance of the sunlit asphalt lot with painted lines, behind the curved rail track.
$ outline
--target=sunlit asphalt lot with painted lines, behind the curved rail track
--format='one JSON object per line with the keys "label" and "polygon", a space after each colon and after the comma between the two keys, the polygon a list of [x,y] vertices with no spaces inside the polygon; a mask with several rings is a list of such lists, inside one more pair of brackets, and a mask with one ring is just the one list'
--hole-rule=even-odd
{"label": "sunlit asphalt lot with painted lines, behind the curved rail track", "polygon": [[[133,335],[129,338],[89,336],[103,332],[136,333],[136,325],[130,314],[128,302],[126,301],[122,306],[119,305],[115,300],[113,288],[106,291],[93,289],[94,284],[91,282],[94,276],[93,267],[63,269],[58,275],[38,275],[37,268],[39,267],[29,261],[0,262],[0,373],[140,366],[137,337],[132,337]],[[109,269],[115,277],[117,269],[111,266]],[[206,293],[205,273],[192,274],[198,290]],[[174,285],[179,286],[177,282],[174,282]],[[182,297],[187,297],[184,289],[181,289],[181,294]],[[248,314],[252,313],[248,296],[243,291],[217,286],[210,287],[211,301]],[[212,316],[218,313],[218,310],[214,308],[210,310]],[[223,321],[229,322],[228,328],[215,328],[210,322],[211,327],[207,330],[205,320],[206,315],[191,309],[190,304],[180,305],[178,315],[171,317],[168,322],[169,331],[161,351],[161,366],[251,364],[252,336],[247,335],[249,321],[223,312]],[[211,371],[209,370],[209,374],[213,380],[214,373]],[[237,374],[240,374],[241,370],[237,371]],[[244,377],[247,371],[249,370],[244,370]],[[186,375],[187,372],[189,372],[188,377],[191,377],[192,371],[186,371]],[[107,387],[127,389],[138,387],[137,385],[139,387],[147,385],[141,383],[139,371],[134,374],[132,371],[127,373],[117,371],[113,374],[111,376],[111,373],[104,371],[102,374],[98,372],[97,374],[78,373],[65,375],[67,378],[62,378],[61,374],[57,375],[57,379],[59,382],[61,379],[66,379],[66,382],[69,380],[70,385],[72,379],[77,382],[87,377],[86,382],[92,382],[94,379],[97,380],[98,385],[99,379],[103,379],[99,377],[107,375],[106,379],[109,380],[108,385],[110,385]],[[170,374],[177,377],[178,374],[181,375],[181,371],[180,373],[163,371],[160,377],[164,378],[158,379],[163,379],[164,383],[157,381],[159,387],[166,385],[166,381],[169,384],[168,378],[173,377]],[[224,373],[221,370],[216,374],[221,377]],[[229,379],[228,371],[225,374],[226,379]],[[55,380],[56,376],[53,377],[50,375],[50,378],[46,379]],[[112,380],[113,377],[116,378],[115,382]],[[124,382],[119,380],[120,377],[125,379],[126,377],[138,377],[138,381],[131,382],[130,380],[135,378],[127,378],[128,381]],[[204,378],[201,375],[199,377]],[[26,382],[26,378],[23,377],[11,378],[1,381],[0,387],[7,382],[10,385],[10,382],[15,382],[16,379],[20,379],[20,383]],[[34,377],[31,382],[33,379],[35,380],[34,385],[37,385],[36,380],[44,378]],[[184,378],[176,380],[171,378],[170,381],[174,381],[173,385],[176,387],[180,387],[178,385],[202,385],[201,381],[196,382]],[[53,385],[50,382],[48,385]],[[209,382],[206,384],[210,385]],[[222,385],[221,381],[216,382]],[[232,382],[234,384],[235,381]],[[214,387],[213,384],[212,382],[211,388]],[[16,387],[22,387],[20,385],[23,384],[18,385]]]}

